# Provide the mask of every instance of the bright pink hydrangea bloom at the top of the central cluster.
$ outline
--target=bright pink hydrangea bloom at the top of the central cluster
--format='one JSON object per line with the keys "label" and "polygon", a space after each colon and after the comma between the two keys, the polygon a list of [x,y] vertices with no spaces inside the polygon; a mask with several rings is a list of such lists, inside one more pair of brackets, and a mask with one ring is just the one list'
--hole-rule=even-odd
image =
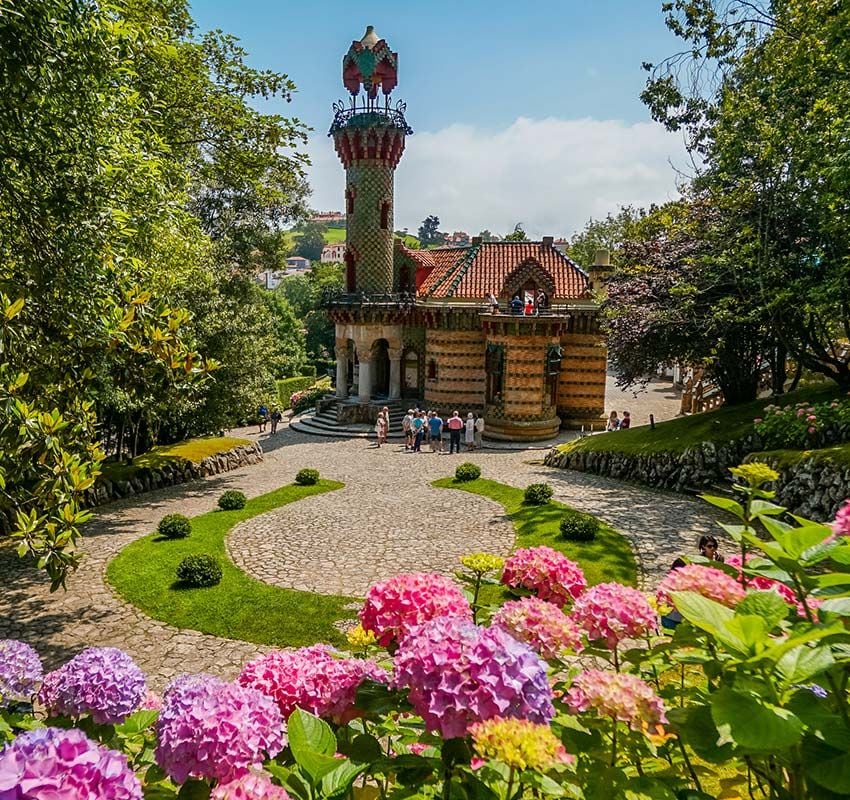
{"label": "bright pink hydrangea bloom at the top of the central cluster", "polygon": [[551,547],[517,550],[505,562],[502,583],[514,589],[530,589],[541,600],[559,607],[587,588],[581,567]]}

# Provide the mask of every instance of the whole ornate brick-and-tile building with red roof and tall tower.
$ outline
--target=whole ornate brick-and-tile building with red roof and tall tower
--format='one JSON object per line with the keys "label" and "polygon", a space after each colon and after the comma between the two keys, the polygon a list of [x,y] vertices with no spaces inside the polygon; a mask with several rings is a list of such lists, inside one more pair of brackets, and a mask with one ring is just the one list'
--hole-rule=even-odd
{"label": "whole ornate brick-and-tile building with red roof and tall tower", "polygon": [[369,421],[386,403],[418,400],[443,416],[483,414],[491,439],[599,424],[606,348],[592,277],[551,237],[434,250],[394,241],[394,171],[412,131],[403,105],[376,95],[396,85],[397,64],[371,28],[352,44],[343,60],[351,105],[336,107],[330,132],[346,168],[347,287],[326,302],[338,418]]}

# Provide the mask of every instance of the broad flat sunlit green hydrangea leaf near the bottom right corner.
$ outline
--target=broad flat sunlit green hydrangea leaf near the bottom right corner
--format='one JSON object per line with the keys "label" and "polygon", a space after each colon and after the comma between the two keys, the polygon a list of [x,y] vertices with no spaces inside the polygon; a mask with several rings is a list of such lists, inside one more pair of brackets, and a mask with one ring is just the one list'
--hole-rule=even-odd
{"label": "broad flat sunlit green hydrangea leaf near the bottom right corner", "polygon": [[711,718],[721,742],[770,753],[798,744],[803,723],[790,711],[723,687],[711,696]]}

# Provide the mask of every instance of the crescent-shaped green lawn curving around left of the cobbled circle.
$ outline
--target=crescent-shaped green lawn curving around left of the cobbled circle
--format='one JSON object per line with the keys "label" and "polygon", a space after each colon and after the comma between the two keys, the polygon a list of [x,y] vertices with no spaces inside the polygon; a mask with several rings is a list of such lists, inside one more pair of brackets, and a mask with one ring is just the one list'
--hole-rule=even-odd
{"label": "crescent-shaped green lawn curving around left of the cobbled circle", "polygon": [[[333,623],[352,617],[344,606],[354,598],[270,586],[242,572],[224,546],[238,522],[342,486],[327,480],[315,486],[282,486],[249,500],[239,511],[211,511],[194,517],[192,533],[186,539],[163,539],[152,533],[121,550],[110,562],[107,578],[125,600],[178,628],[275,646],[342,644],[343,636]],[[209,553],[219,559],[224,575],[218,586],[188,589],[177,585],[177,565],[192,553]]]}

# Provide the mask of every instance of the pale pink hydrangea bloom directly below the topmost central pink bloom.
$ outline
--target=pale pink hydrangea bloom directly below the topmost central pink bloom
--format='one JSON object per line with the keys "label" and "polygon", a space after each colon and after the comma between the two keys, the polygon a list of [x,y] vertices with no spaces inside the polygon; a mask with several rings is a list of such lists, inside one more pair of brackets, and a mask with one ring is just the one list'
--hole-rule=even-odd
{"label": "pale pink hydrangea bloom directly below the topmost central pink bloom", "polygon": [[539,597],[508,601],[493,615],[491,624],[504,628],[546,659],[578,653],[584,647],[579,627],[560,608]]}

